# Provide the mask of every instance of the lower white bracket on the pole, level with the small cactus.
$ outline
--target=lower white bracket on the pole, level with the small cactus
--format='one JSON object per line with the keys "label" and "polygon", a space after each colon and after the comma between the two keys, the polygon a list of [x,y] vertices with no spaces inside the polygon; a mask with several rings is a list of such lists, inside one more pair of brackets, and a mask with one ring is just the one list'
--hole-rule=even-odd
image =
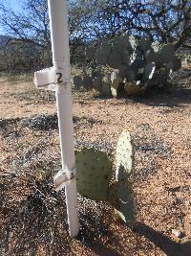
{"label": "lower white bracket on the pole, level with the small cactus", "polygon": [[74,182],[76,179],[76,170],[64,171],[60,170],[56,175],[53,176],[53,184],[55,186],[55,191],[62,190],[67,184]]}

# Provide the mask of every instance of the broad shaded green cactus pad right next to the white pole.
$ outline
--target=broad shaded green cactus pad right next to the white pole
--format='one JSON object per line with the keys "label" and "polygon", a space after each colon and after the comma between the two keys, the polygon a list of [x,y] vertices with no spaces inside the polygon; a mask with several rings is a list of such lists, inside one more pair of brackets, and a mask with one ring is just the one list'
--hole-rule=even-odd
{"label": "broad shaded green cactus pad right next to the white pole", "polygon": [[107,200],[112,162],[105,152],[83,149],[75,152],[77,192],[95,200]]}

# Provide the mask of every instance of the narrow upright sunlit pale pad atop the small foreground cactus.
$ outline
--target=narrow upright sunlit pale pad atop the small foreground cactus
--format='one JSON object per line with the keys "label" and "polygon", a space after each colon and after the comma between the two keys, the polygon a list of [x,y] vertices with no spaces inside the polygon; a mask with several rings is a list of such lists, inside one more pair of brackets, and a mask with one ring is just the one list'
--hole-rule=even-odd
{"label": "narrow upright sunlit pale pad atop the small foreground cactus", "polygon": [[128,130],[123,130],[118,138],[116,161],[116,179],[124,181],[129,177],[133,168],[133,147]]}

